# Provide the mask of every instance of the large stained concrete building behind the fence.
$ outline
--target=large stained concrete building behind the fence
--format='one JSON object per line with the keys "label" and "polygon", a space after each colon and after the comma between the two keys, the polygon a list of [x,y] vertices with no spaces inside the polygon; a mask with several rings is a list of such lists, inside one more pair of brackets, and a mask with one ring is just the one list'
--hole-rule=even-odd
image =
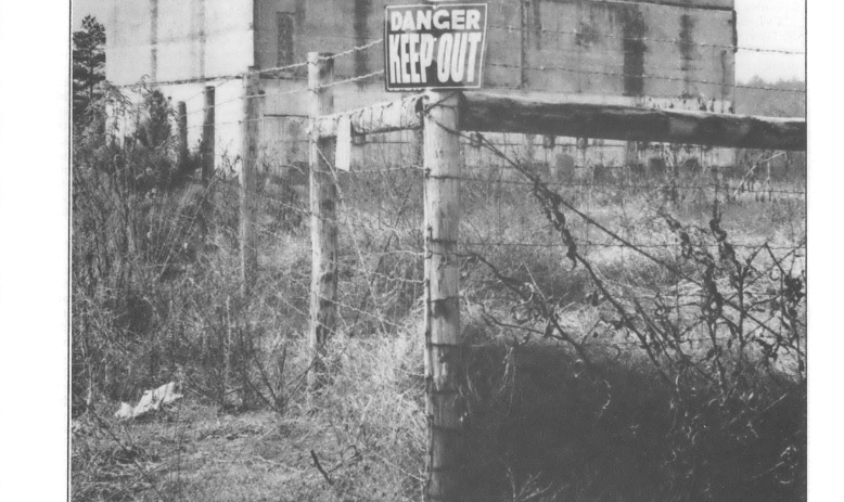
{"label": "large stained concrete building behind the fence", "polygon": [[[205,86],[217,86],[216,149],[236,156],[239,79],[250,67],[306,61],[310,51],[345,52],[383,36],[389,0],[114,0],[106,76],[130,86],[146,76],[186,101],[189,143],[202,129]],[[559,100],[730,112],[733,0],[488,0],[484,89]],[[383,46],[340,56],[337,79],[383,69]],[[261,75],[261,144],[280,165],[304,160],[307,68]],[[225,82],[225,83],[221,83]],[[379,76],[337,86],[337,111],[397,98]],[[285,145],[279,147],[280,139]],[[528,140],[529,142],[529,140]],[[581,142],[583,143],[583,142]],[[594,142],[587,142],[592,144]],[[600,142],[598,142],[600,144]],[[605,142],[610,143],[610,142]],[[541,139],[537,142],[541,144]],[[575,141],[557,144],[574,145]],[[541,147],[541,146],[539,146]],[[601,163],[639,158],[645,145],[608,144]],[[601,154],[604,155],[603,153]]]}

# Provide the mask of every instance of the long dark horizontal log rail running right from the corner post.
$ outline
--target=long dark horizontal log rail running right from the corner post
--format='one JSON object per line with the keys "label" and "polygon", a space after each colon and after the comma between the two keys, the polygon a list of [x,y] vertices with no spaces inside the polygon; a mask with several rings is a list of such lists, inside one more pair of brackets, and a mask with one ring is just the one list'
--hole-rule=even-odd
{"label": "long dark horizontal log rail running right from the corner post", "polygon": [[466,93],[462,107],[460,128],[465,131],[806,150],[806,120],[796,118],[553,103],[482,92]]}

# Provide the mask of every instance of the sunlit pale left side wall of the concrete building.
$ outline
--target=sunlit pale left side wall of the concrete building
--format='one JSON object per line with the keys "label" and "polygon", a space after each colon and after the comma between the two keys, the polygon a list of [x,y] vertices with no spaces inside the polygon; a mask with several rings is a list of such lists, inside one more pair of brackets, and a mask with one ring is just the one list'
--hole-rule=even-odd
{"label": "sunlit pale left side wall of the concrete building", "polygon": [[[158,88],[174,105],[186,101],[189,144],[196,147],[204,87],[254,63],[253,15],[251,0],[112,0],[104,23],[106,78],[129,94],[142,78],[162,82]],[[217,88],[217,158],[240,153],[241,93],[240,80]]]}

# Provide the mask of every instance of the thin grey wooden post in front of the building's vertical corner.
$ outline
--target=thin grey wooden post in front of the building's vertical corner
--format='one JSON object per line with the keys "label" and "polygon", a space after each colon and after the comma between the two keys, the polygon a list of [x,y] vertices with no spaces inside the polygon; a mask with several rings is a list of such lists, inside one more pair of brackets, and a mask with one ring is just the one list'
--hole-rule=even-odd
{"label": "thin grey wooden post in front of the building's vertical corner", "polygon": [[258,274],[257,162],[260,119],[259,75],[250,67],[243,76],[243,124],[241,127],[240,243],[241,291],[245,297]]}

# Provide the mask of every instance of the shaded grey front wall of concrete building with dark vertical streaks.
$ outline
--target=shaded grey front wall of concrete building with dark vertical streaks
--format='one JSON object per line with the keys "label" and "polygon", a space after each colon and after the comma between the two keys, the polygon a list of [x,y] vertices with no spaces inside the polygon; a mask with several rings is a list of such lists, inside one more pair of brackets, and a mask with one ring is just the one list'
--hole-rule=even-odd
{"label": "shaded grey front wall of concrete building with dark vertical streaks", "polygon": [[[263,68],[278,65],[279,13],[295,22],[294,60],[304,61],[309,51],[342,52],[381,38],[386,3],[256,0],[257,63]],[[389,2],[401,3],[415,2]],[[718,101],[718,110],[724,111],[731,104],[732,50],[699,43],[733,43],[732,0],[495,0],[489,4],[486,89],[629,98],[703,95]],[[642,37],[647,40],[634,40]],[[341,77],[380,69],[382,47],[336,62]],[[304,72],[278,77],[295,79]]]}

